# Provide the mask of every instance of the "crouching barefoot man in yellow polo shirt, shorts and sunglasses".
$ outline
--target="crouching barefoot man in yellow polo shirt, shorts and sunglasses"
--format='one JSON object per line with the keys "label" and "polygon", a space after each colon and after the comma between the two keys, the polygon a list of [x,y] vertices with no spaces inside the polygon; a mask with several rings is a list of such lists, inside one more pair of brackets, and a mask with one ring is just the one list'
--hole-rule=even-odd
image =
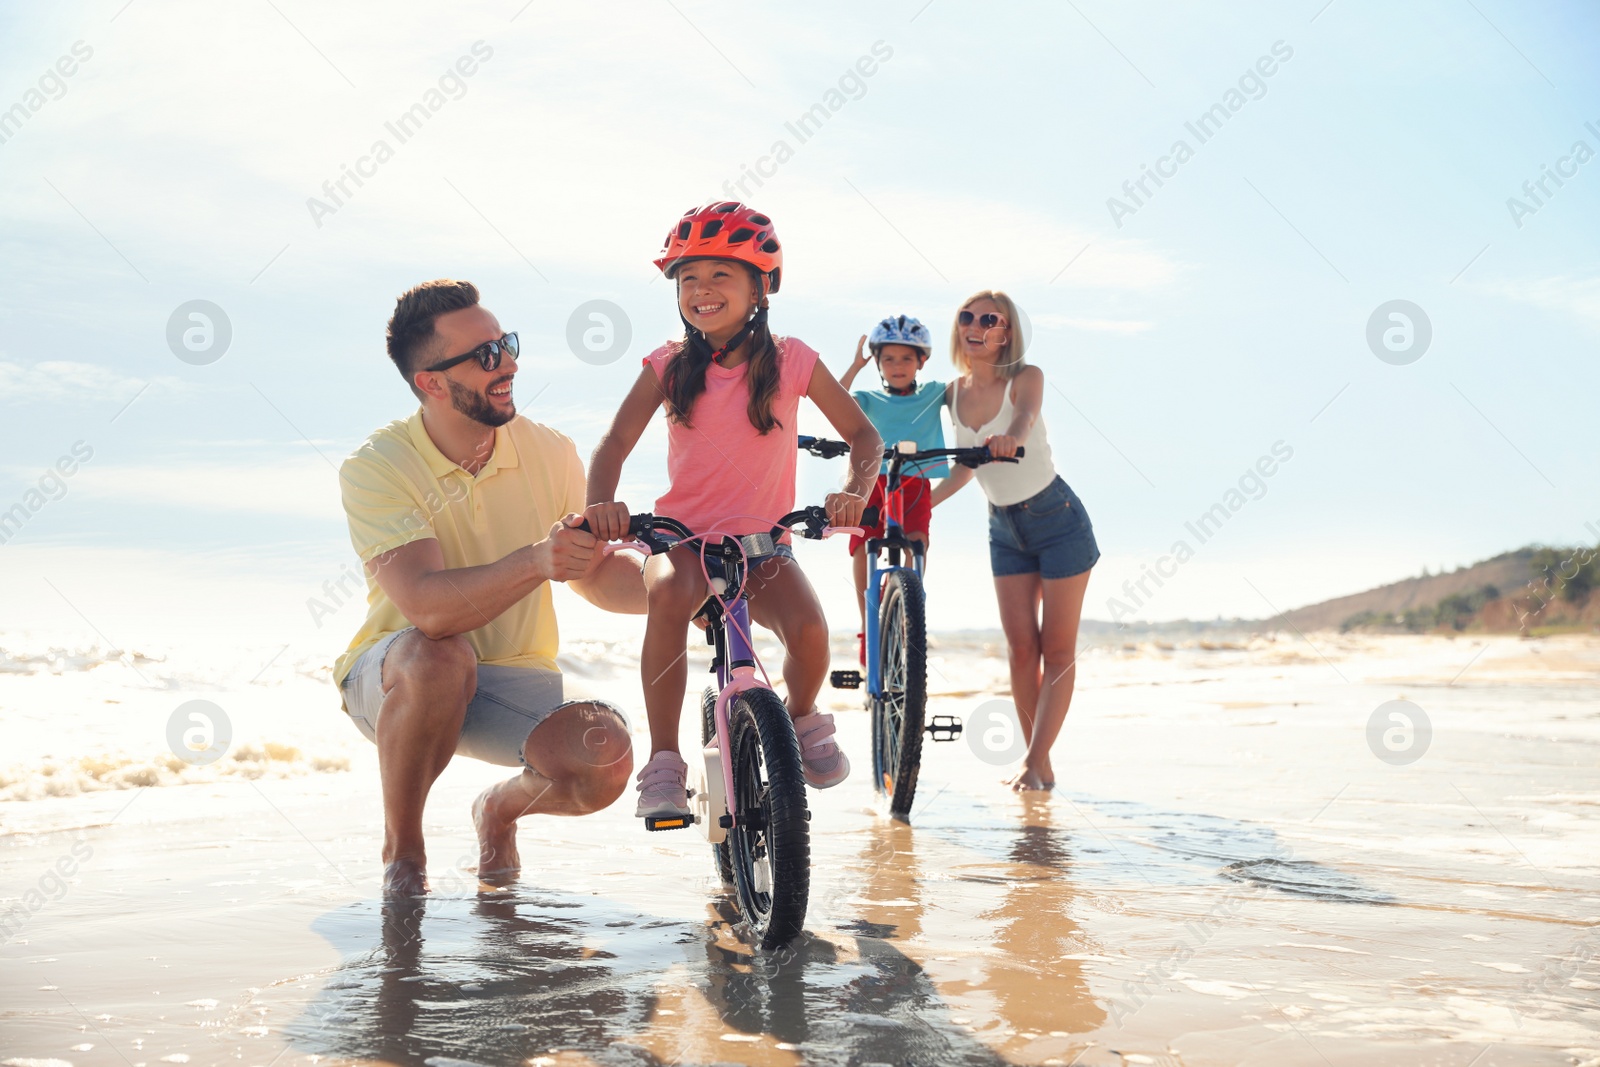
{"label": "crouching barefoot man in yellow polo shirt, shorts and sunglasses", "polygon": [[474,285],[400,296],[389,358],[422,406],[339,469],[368,611],[333,673],[378,744],[384,893],[416,896],[427,893],[422,805],[451,755],[522,768],[472,805],[480,878],[517,872],[522,816],[589,814],[622,793],[627,721],[600,701],[563,702],[550,582],[634,614],[645,584],[635,560],[576,528],[582,461],[517,414],[517,334]]}

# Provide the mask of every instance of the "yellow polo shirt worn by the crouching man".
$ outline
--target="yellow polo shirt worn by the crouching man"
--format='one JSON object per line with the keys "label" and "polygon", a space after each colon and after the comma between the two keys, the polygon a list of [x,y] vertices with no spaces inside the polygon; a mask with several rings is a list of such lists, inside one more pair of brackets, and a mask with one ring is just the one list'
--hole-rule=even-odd
{"label": "yellow polo shirt worn by the crouching man", "polygon": [[[350,544],[366,563],[434,537],[446,568],[494,563],[542,541],[568,512],[584,510],[584,464],[571,438],[522,416],[494,430],[494,453],[477,477],[445,458],[422,411],[366,438],[339,467]],[[333,665],[334,681],[368,648],[411,625],[366,576],[366,621]],[[546,582],[490,624],[464,635],[478,662],[555,670],[558,635]]]}

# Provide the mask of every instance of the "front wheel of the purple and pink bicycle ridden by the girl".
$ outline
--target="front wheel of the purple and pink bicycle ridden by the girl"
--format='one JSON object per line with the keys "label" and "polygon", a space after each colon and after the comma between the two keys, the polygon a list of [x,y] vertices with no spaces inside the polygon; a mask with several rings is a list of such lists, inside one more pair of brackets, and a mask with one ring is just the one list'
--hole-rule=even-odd
{"label": "front wheel of the purple and pink bicycle ridden by the girl", "polygon": [[747,689],[728,709],[734,827],[728,833],[734,901],[762,949],[778,949],[805,923],[811,894],[811,813],[800,742],[771,689]]}

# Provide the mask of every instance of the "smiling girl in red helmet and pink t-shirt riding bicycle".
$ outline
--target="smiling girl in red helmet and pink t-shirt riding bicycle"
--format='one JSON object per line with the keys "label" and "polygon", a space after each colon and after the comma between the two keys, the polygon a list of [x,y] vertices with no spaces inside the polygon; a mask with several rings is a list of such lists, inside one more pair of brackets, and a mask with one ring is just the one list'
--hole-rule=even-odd
{"label": "smiling girl in red helmet and pink t-shirt riding bicycle", "polygon": [[[659,408],[667,413],[670,486],[654,510],[696,534],[768,533],[794,507],[795,418],[810,397],[850,442],[850,478],[829,493],[835,526],[859,522],[882,442],[872,424],[797,338],[774,338],[768,296],[782,282],[782,248],[765,214],[734,202],[691,208],[678,219],[656,267],[677,283],[683,339],[645,358],[589,466],[584,517],[606,541],[627,536],[629,509],[613,501],[622,462]],[[816,710],[829,665],[827,621],[795,563],[787,537],[750,558],[750,616],[784,645],[786,704],[814,789],[845,781],[850,761],[834,741],[834,717]],[[760,565],[760,566],[755,566]],[[650,614],[640,649],[651,757],[638,773],[638,817],[690,814],[688,765],[678,753],[678,717],[688,686],[690,621],[710,595],[696,545],[645,563]]]}

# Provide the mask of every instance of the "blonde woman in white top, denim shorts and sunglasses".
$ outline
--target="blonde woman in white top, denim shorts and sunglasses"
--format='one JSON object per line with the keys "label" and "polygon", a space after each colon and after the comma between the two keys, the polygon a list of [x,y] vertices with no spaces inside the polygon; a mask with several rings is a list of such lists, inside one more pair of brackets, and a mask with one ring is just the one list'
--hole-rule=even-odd
{"label": "blonde woman in white top, denim shorts and sunglasses", "polygon": [[1014,464],[955,467],[933,493],[939,504],[978,475],[989,498],[989,563],[1011,659],[1011,699],[1027,736],[1011,789],[1053,789],[1050,747],[1072,704],[1078,617],[1099,560],[1094,526],[1056,474],[1040,406],[1045,373],[1022,358],[1016,304],[1000,291],[971,296],[955,315],[950,358],[962,376],[946,389],[962,448],[987,445]]}

